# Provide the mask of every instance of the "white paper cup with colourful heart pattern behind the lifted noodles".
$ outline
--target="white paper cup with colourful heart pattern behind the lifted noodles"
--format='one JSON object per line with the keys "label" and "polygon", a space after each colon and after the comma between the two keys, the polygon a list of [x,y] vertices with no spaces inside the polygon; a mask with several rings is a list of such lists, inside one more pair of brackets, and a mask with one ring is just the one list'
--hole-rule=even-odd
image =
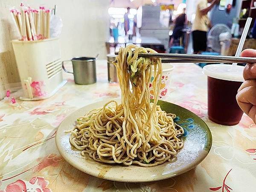
{"label": "white paper cup with colourful heart pattern behind the lifted noodles", "polygon": [[[170,75],[174,68],[174,66],[169,63],[163,63],[162,67],[163,67],[163,74],[162,74],[162,83],[161,83],[161,87],[160,87],[160,91],[159,91],[159,99],[163,99],[164,97],[166,97],[166,95],[170,89],[170,83],[171,83]],[[154,80],[154,77],[152,76],[150,84],[149,84],[150,99],[154,98],[154,90],[152,87],[153,80]]]}

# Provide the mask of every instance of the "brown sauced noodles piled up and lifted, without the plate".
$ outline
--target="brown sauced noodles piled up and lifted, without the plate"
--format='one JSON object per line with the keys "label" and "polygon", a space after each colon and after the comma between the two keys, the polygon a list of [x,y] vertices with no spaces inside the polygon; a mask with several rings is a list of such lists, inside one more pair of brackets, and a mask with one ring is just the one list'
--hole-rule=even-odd
{"label": "brown sauced noodles piled up and lifted, without the plate", "polygon": [[[121,88],[121,104],[111,100],[103,108],[77,119],[70,143],[83,156],[89,154],[103,163],[149,167],[171,161],[183,147],[178,137],[184,130],[173,121],[176,115],[162,111],[157,105],[161,59],[138,58],[139,52],[156,53],[153,49],[128,45],[120,48],[117,63],[113,62]],[[154,102],[150,103],[152,73]]]}

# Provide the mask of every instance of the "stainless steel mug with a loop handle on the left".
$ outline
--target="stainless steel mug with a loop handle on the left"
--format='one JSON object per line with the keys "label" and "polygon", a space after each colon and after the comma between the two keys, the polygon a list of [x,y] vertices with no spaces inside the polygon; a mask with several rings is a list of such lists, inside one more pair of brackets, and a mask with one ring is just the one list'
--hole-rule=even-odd
{"label": "stainless steel mug with a loop handle on the left", "polygon": [[[72,58],[73,75],[76,84],[93,84],[96,83],[96,59],[93,57],[76,57]],[[67,73],[72,73],[64,67],[62,61],[62,68]]]}

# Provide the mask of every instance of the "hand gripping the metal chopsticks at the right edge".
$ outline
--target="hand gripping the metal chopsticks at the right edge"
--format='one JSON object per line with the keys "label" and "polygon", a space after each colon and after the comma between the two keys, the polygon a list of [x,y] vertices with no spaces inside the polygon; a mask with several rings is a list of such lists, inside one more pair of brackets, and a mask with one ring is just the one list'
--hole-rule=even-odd
{"label": "hand gripping the metal chopsticks at the right edge", "polygon": [[[241,57],[256,57],[256,49],[245,49]],[[244,67],[244,82],[238,90],[236,100],[241,108],[256,123],[256,63]]]}

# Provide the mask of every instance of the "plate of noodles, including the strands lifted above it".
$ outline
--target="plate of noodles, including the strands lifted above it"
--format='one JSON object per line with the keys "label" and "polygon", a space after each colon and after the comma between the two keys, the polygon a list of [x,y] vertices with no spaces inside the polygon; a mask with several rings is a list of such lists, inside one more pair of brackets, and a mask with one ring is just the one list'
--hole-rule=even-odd
{"label": "plate of noodles, including the strands lifted above it", "polygon": [[208,126],[191,111],[158,100],[161,59],[138,57],[140,52],[156,53],[128,45],[113,62],[121,99],[87,105],[58,128],[60,154],[87,174],[124,182],[162,180],[191,170],[209,153]]}

